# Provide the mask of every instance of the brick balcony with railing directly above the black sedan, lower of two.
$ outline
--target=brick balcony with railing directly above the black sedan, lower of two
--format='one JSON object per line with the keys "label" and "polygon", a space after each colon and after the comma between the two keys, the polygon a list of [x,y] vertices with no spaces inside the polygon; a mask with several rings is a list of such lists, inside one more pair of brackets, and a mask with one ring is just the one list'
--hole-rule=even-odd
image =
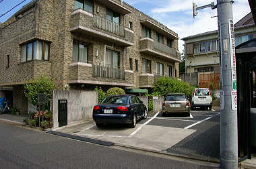
{"label": "brick balcony with railing directly above the black sedan, lower of two", "polygon": [[69,65],[69,84],[99,84],[133,87],[133,72],[91,62]]}

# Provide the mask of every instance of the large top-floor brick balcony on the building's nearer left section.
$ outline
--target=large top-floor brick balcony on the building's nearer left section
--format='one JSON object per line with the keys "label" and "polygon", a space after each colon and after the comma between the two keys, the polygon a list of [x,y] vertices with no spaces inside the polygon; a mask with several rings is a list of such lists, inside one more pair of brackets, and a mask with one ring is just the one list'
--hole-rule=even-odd
{"label": "large top-floor brick balcony on the building's nearer left section", "polygon": [[133,46],[132,30],[83,9],[71,13],[71,32],[86,34],[121,46]]}

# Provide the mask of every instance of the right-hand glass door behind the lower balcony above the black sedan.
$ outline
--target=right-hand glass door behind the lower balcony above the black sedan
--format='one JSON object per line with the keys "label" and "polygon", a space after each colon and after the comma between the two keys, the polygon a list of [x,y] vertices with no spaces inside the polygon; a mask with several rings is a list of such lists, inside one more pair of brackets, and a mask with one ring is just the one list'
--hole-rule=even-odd
{"label": "right-hand glass door behind the lower balcony above the black sedan", "polygon": [[106,49],[105,64],[106,66],[119,68],[119,52]]}

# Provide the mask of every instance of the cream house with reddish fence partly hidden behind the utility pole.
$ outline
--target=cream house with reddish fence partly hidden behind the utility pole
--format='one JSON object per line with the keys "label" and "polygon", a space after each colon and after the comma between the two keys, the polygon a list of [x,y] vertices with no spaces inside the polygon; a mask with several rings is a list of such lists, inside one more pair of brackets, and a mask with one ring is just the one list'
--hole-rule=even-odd
{"label": "cream house with reddish fence partly hidden behind the utility pole", "polygon": [[[253,15],[247,14],[234,24],[235,44],[238,46],[256,38],[256,27]],[[218,31],[205,32],[183,38],[185,41],[185,76],[197,76],[197,86],[218,89],[220,82],[220,42]]]}

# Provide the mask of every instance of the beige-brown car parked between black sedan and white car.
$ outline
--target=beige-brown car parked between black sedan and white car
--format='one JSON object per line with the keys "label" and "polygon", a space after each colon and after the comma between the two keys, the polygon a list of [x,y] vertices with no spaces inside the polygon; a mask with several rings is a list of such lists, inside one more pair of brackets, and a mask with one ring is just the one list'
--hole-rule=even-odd
{"label": "beige-brown car parked between black sedan and white car", "polygon": [[189,99],[184,93],[172,93],[164,97],[162,116],[167,113],[190,113]]}

